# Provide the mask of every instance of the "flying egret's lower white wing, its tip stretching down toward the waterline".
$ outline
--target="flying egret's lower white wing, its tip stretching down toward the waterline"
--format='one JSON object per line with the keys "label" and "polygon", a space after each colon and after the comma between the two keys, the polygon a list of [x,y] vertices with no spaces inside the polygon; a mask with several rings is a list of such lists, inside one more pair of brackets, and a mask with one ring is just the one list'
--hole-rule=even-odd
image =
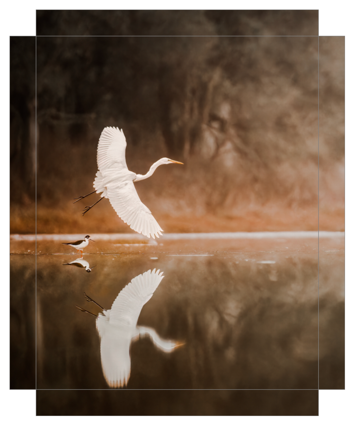
{"label": "flying egret's lower white wing, its tip stretching down toward the waterline", "polygon": [[136,192],[133,181],[120,187],[107,186],[107,198],[119,217],[127,223],[131,229],[142,235],[159,238],[162,229],[152,215],[152,212],[144,205]]}

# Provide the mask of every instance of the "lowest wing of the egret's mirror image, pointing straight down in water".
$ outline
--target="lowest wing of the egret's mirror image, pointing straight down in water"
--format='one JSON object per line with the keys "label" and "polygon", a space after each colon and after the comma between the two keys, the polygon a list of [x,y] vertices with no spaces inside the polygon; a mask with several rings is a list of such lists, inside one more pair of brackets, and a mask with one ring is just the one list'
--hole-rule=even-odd
{"label": "lowest wing of the egret's mirror image, pointing straight down in water", "polygon": [[105,380],[113,388],[127,385],[131,371],[129,335],[107,327],[100,341],[100,357]]}

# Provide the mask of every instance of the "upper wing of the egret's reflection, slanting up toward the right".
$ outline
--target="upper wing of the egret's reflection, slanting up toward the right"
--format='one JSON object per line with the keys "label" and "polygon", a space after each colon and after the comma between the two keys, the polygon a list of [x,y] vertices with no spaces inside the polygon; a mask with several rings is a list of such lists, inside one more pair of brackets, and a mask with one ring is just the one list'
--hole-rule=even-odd
{"label": "upper wing of the egret's reflection, slanting up toward the right", "polygon": [[[136,328],[138,316],[144,304],[153,295],[159,283],[164,278],[159,270],[148,270],[136,276],[121,290],[110,309],[110,323]],[[107,312],[105,312],[107,314]]]}

